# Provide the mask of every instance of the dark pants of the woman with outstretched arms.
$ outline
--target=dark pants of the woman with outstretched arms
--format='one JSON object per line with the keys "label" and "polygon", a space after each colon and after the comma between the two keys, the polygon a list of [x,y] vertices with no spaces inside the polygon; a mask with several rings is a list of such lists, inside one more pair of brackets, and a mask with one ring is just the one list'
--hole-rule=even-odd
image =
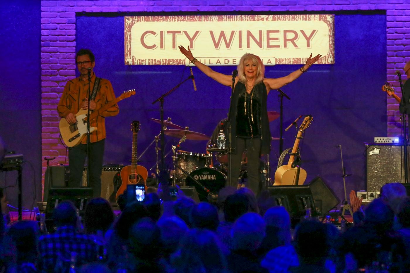
{"label": "dark pants of the woman with outstretched arms", "polygon": [[[248,158],[248,183],[255,194],[259,194],[260,185],[260,138],[236,138],[235,154],[232,154],[232,187],[237,187],[239,174],[241,172],[242,154],[246,150]],[[230,167],[230,166],[228,166]],[[229,185],[229,172],[228,183]]]}

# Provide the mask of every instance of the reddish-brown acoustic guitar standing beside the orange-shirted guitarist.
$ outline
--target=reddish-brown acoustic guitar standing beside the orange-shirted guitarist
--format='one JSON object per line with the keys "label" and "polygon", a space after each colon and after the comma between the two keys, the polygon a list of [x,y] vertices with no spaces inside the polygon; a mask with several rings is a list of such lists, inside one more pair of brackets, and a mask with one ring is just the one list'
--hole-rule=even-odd
{"label": "reddish-brown acoustic guitar standing beside the orange-shirted guitarist", "polygon": [[147,189],[146,180],[148,177],[148,171],[145,167],[138,165],[137,160],[137,136],[139,131],[139,121],[134,120],[131,123],[132,131],[132,155],[131,165],[125,166],[121,169],[121,187],[119,187],[115,200],[118,200],[118,196],[124,193],[127,189],[127,185],[141,184]]}

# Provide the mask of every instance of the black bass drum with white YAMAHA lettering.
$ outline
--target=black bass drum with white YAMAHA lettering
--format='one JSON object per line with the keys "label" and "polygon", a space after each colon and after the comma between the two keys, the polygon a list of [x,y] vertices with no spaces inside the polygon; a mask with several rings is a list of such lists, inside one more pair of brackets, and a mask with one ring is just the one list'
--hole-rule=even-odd
{"label": "black bass drum with white YAMAHA lettering", "polygon": [[[206,187],[213,194],[218,194],[219,190],[225,187],[226,176],[220,171],[211,168],[201,168],[196,169],[191,172],[190,175],[198,180],[204,187]],[[185,180],[187,186],[194,186],[196,192],[198,192],[198,197],[200,201],[208,201],[208,193],[198,185],[194,180],[189,176]]]}

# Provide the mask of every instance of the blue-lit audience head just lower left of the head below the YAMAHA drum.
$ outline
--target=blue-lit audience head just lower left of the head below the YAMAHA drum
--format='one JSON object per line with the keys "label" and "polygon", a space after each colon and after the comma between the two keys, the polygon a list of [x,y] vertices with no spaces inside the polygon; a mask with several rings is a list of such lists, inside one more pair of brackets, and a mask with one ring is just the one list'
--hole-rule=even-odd
{"label": "blue-lit audience head just lower left of the head below the YAMAHA drum", "polygon": [[182,237],[189,230],[187,224],[178,216],[161,218],[157,222],[161,233],[161,256],[169,263],[170,255],[175,252]]}

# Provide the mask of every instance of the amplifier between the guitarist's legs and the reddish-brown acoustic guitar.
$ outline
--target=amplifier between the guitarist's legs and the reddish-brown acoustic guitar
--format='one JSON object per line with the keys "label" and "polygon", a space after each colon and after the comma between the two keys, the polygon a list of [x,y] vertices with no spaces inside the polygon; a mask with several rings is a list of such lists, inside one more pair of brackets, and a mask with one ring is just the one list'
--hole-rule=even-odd
{"label": "amplifier between the guitarist's legs and the reddish-brown acoustic guitar", "polygon": [[[121,185],[120,171],[124,165],[103,166],[101,174],[101,197],[110,203],[115,203],[115,195]],[[82,186],[87,187],[87,167],[82,173]]]}

